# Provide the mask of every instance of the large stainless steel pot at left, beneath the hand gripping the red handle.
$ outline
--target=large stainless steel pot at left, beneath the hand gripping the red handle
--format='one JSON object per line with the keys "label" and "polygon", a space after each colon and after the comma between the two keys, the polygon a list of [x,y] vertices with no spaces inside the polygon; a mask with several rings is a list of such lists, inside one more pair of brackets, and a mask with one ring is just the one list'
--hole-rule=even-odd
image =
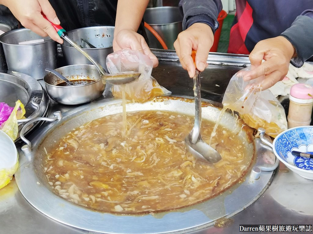
{"label": "large stainless steel pot at left, beneath the hand gripping the red handle", "polygon": [[[43,42],[19,45],[19,42],[44,39]],[[18,71],[36,80],[43,79],[45,68],[57,66],[57,44],[50,37],[40,37],[27,28],[16,29],[0,36],[8,70]]]}

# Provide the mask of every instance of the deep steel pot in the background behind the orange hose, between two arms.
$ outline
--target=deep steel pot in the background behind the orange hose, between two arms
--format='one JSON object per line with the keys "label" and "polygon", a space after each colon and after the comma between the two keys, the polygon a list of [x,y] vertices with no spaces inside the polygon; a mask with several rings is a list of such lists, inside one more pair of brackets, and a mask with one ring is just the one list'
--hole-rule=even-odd
{"label": "deep steel pot in the background behind the orange hose, between two arms", "polygon": [[[144,21],[149,24],[159,35],[170,50],[175,50],[174,41],[182,32],[183,17],[178,7],[153,7],[147,8],[143,16]],[[149,39],[149,47],[162,49],[156,37],[146,29]]]}

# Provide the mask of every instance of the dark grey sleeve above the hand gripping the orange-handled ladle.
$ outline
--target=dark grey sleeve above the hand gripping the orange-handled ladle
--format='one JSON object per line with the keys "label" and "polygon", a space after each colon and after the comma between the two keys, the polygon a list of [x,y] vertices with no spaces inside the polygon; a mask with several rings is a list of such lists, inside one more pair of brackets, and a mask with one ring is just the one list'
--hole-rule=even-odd
{"label": "dark grey sleeve above the hand gripping the orange-handled ladle", "polygon": [[184,16],[183,30],[194,23],[208,24],[213,33],[218,28],[217,17],[223,8],[221,0],[180,0],[179,7]]}

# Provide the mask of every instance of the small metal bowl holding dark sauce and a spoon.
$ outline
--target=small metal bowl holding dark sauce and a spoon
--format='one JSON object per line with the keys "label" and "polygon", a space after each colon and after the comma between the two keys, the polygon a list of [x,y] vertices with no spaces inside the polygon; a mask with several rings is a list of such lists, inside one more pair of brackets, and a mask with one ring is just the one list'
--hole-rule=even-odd
{"label": "small metal bowl holding dark sauce and a spoon", "polygon": [[94,65],[69,65],[55,69],[68,80],[95,80],[90,84],[77,86],[57,86],[64,81],[52,73],[44,76],[46,90],[52,100],[66,105],[78,105],[90,102],[100,97],[105,90],[105,84],[100,79],[100,73]]}

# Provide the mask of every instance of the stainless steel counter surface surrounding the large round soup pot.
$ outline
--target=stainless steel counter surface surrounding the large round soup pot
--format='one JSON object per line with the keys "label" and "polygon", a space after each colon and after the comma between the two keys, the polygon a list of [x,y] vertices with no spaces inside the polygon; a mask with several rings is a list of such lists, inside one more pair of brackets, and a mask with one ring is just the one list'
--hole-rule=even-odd
{"label": "stainless steel counter surface surrounding the large round soup pot", "polygon": [[[174,53],[154,51],[160,64],[152,72],[160,85],[176,95],[193,95],[192,80],[188,78]],[[247,56],[214,54],[209,56],[210,65],[202,73],[202,98],[221,102],[229,79],[242,66],[248,65]],[[44,86],[43,81],[40,83]],[[99,100],[111,97],[109,87]],[[56,110],[65,112],[75,106],[59,105],[51,101],[49,116]],[[285,110],[289,101],[280,98]],[[20,146],[20,145],[19,145]],[[36,191],[34,191],[36,193]],[[190,233],[239,233],[239,224],[312,224],[313,181],[304,179],[280,164],[269,188],[242,212],[227,219],[224,227],[211,226]],[[44,197],[42,197],[44,199]],[[236,202],[236,201],[233,201]],[[53,209],[53,207],[51,207]],[[221,225],[220,225],[221,226]],[[56,222],[33,208],[19,192],[15,180],[0,189],[0,233],[94,233],[79,230]],[[282,233],[282,232],[281,232]]]}

